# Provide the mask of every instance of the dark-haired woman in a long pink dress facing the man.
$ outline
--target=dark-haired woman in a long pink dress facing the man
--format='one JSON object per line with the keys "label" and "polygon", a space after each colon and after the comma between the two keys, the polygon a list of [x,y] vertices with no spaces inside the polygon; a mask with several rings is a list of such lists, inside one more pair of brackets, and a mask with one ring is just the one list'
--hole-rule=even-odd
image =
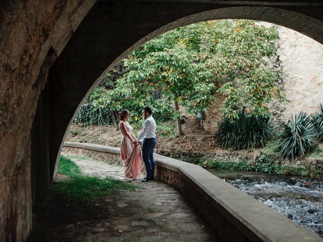
{"label": "dark-haired woman in a long pink dress facing the man", "polygon": [[132,133],[132,128],[128,123],[130,112],[124,109],[120,113],[119,128],[122,134],[120,143],[120,154],[126,166],[125,177],[138,179],[141,172],[141,149],[139,145],[132,144],[136,137]]}

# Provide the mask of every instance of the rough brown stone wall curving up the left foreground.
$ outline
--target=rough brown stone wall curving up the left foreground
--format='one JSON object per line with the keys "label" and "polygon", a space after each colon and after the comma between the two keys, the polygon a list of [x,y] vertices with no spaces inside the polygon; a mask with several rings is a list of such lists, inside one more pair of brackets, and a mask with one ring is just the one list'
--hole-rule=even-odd
{"label": "rough brown stone wall curving up the left foreground", "polygon": [[30,130],[37,100],[49,67],[94,3],[0,2],[0,241],[25,241],[31,231]]}

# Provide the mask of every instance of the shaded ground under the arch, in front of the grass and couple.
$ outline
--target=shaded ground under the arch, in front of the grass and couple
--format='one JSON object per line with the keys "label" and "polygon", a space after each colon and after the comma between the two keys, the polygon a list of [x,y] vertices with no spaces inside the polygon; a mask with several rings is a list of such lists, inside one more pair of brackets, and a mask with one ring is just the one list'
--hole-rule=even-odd
{"label": "shaded ground under the arch, in front of the grass and couple", "polygon": [[217,241],[172,187],[134,183],[135,191],[88,201],[50,191],[33,208],[29,241]]}

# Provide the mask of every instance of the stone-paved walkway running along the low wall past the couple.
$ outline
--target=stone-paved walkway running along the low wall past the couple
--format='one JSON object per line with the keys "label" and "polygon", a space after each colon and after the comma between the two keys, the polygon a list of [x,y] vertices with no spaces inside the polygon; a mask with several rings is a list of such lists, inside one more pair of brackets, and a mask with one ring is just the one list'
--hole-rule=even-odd
{"label": "stone-paved walkway running along the low wall past the couple", "polygon": [[[124,167],[110,165],[93,159],[70,157],[82,173],[98,177],[111,176],[124,179]],[[122,191],[107,199],[107,206],[116,203],[118,216],[94,228],[93,234],[84,235],[79,241],[218,241],[207,225],[186,204],[182,195],[172,187],[149,181],[129,181],[138,186],[136,191]],[[106,234],[106,237],[102,236]]]}

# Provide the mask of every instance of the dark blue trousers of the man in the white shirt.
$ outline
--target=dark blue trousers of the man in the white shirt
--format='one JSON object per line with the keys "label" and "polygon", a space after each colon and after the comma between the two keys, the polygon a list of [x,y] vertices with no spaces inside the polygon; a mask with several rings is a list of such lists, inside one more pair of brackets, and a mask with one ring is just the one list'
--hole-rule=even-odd
{"label": "dark blue trousers of the man in the white shirt", "polygon": [[142,159],[146,165],[147,177],[151,178],[155,174],[155,160],[153,159],[153,148],[156,145],[155,138],[147,138],[142,144]]}

